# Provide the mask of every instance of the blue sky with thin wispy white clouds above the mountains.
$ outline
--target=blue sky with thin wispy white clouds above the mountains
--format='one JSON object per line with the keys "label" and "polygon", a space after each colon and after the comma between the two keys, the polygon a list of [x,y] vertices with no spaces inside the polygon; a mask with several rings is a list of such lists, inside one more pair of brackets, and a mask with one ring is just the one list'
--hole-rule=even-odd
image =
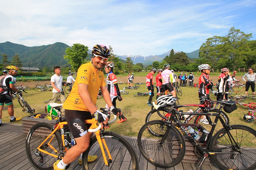
{"label": "blue sky with thin wispy white clouds above the mountains", "polygon": [[231,27],[256,40],[255,0],[0,0],[0,43],[111,45],[116,55],[192,52]]}

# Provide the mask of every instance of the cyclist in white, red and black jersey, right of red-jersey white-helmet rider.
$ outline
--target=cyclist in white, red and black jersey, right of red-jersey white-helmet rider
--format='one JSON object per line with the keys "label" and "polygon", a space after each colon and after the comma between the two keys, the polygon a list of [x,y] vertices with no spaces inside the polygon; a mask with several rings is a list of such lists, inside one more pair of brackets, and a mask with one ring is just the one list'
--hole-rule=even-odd
{"label": "cyclist in white, red and black jersey, right of red-jersey white-helmet rider", "polygon": [[221,69],[221,74],[217,83],[217,100],[223,100],[228,98],[229,82],[231,81],[231,73],[228,68]]}

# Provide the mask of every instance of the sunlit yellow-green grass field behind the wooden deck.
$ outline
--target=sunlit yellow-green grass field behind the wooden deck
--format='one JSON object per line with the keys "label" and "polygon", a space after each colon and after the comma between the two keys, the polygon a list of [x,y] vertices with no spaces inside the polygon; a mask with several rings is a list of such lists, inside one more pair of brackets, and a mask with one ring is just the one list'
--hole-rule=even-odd
{"label": "sunlit yellow-green grass field behind the wooden deck", "polygon": [[[119,88],[122,90],[123,87],[126,87],[126,84],[119,84]],[[117,123],[115,121],[114,123],[110,124],[110,128],[106,130],[114,131],[117,133],[120,133],[122,135],[127,136],[137,136],[137,133],[139,132],[141,126],[145,122],[146,115],[148,112],[150,112],[151,107],[149,107],[146,102],[148,101],[149,96],[144,97],[134,97],[134,94],[137,94],[137,92],[148,92],[146,85],[141,85],[140,88],[137,90],[129,90],[129,94],[122,95],[123,100],[121,102],[117,101],[117,107],[122,109],[122,113],[124,116],[127,117],[127,121],[123,123]],[[188,88],[183,87],[182,88],[182,96],[180,97],[180,104],[198,104],[198,94],[197,94],[198,88]],[[241,92],[243,94],[244,92]],[[250,90],[249,90],[250,93]],[[25,100],[31,105],[35,110],[36,113],[44,113],[45,112],[45,103],[43,101],[49,100],[52,98],[52,92],[46,91],[46,92],[36,92],[34,90],[27,90],[27,93],[23,93],[23,97]],[[216,96],[213,94],[210,95],[212,100],[216,100]],[[153,97],[153,101],[156,100],[156,94]],[[244,103],[248,102],[256,102],[255,100],[252,100],[252,98],[247,98]],[[14,115],[15,117],[25,117],[29,116],[28,113],[23,113],[22,108],[20,107],[18,100],[15,98],[13,100],[14,103]],[[106,103],[103,98],[97,99],[97,108],[105,107]],[[186,108],[187,110],[184,110],[184,112],[187,112],[190,108]],[[195,110],[195,108],[191,108]],[[228,114],[228,117],[230,119],[230,124],[238,124],[238,125],[246,125],[253,129],[256,128],[255,121],[251,123],[247,123],[243,120],[243,115],[248,113],[248,107],[237,105],[237,110]],[[7,109],[3,111],[2,116],[2,122],[9,122],[9,115],[7,112]],[[190,123],[193,123],[194,120],[190,121]],[[21,121],[14,122],[21,124]]]}

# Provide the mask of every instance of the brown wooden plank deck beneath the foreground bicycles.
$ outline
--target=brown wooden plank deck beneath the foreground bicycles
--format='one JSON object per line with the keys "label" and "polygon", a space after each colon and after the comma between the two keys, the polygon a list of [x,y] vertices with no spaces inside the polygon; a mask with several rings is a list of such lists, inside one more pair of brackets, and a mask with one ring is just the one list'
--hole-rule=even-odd
{"label": "brown wooden plank deck beneath the foreground bicycles", "polygon": [[[140,161],[140,170],[198,170],[197,164],[181,162],[172,168],[159,168],[148,163],[140,154],[136,137],[127,137],[135,148]],[[0,127],[0,169],[1,170],[34,170],[29,163],[25,150],[26,135],[19,125],[2,123]],[[81,170],[78,160],[71,163],[69,170]],[[203,165],[204,170],[217,170],[214,165]]]}

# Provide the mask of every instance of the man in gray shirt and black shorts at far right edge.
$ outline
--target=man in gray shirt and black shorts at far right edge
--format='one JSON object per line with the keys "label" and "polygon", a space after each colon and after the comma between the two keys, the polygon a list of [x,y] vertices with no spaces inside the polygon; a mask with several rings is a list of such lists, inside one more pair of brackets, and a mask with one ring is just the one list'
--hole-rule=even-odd
{"label": "man in gray shirt and black shorts at far right edge", "polygon": [[[251,86],[251,91],[252,91],[252,99],[255,99],[255,78],[256,78],[256,73],[254,73],[254,69],[249,68],[249,73],[245,73],[243,76],[243,80],[246,82],[245,84],[245,93],[248,94],[249,87]],[[246,80],[245,80],[246,77]]]}

